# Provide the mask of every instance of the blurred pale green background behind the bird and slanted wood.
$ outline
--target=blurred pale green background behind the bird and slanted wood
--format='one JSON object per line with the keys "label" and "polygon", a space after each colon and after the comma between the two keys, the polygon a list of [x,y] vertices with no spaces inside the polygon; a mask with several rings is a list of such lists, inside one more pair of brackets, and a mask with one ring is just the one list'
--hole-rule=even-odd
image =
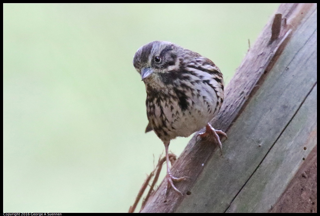
{"label": "blurred pale green background behind the bird and slanted wood", "polygon": [[171,41],[211,59],[228,83],[277,7],[4,4],[3,211],[128,211],[164,151],[144,133],[136,50]]}

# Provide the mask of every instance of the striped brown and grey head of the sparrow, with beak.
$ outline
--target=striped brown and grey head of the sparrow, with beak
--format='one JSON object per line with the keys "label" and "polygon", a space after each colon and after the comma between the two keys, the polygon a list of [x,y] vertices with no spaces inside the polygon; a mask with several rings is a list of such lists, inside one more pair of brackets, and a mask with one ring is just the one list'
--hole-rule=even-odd
{"label": "striped brown and grey head of the sparrow, with beak", "polygon": [[167,41],[153,41],[138,49],[133,58],[133,66],[146,84],[152,83],[180,68],[184,50]]}

